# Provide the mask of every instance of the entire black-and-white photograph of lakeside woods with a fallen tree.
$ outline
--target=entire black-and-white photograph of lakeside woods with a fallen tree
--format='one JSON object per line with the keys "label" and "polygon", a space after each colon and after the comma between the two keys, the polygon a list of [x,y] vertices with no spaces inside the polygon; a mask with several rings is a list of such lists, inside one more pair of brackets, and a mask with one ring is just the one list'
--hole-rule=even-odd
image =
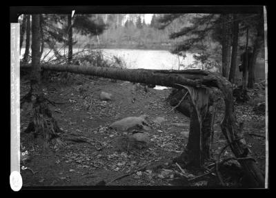
{"label": "entire black-and-white photograph of lakeside woods with a fallen tree", "polygon": [[10,26],[21,190],[268,188],[266,6],[54,7]]}

